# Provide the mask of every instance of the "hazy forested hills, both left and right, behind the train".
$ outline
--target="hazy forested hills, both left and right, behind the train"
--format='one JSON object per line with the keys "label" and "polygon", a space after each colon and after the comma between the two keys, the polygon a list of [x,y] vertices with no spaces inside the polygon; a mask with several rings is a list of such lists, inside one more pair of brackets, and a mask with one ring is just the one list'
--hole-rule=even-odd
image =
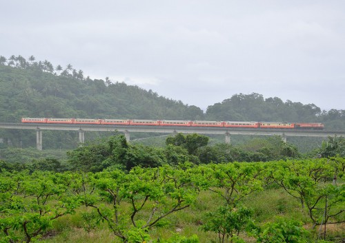
{"label": "hazy forested hills, both left and right, behind the train", "polygon": [[[152,90],[110,81],[92,79],[68,64],[56,67],[50,61],[28,60],[23,56],[0,56],[0,122],[19,123],[21,117],[132,118],[162,120],[255,120],[321,122],[326,129],[345,129],[345,110],[322,111],[314,104],[304,105],[261,94],[235,94],[208,106],[206,113],[159,96]],[[77,145],[77,136],[68,131],[45,131],[46,148]],[[87,136],[94,137],[87,134]],[[34,131],[1,130],[14,147],[34,146]],[[66,146],[66,144],[70,144]],[[1,147],[1,144],[0,144]]]}

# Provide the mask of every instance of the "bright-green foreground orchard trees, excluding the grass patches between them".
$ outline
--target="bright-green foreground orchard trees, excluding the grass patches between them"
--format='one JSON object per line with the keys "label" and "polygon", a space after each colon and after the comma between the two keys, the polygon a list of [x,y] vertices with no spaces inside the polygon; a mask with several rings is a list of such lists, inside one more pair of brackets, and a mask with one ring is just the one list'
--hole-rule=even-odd
{"label": "bright-green foreground orchard trees, excluding the grass patches between them", "polygon": [[[253,209],[244,207],[244,200],[252,193],[282,188],[306,211],[309,219],[305,223],[344,222],[344,165],[343,158],[333,158],[199,166],[184,163],[178,167],[133,167],[128,173],[120,169],[97,173],[3,170],[0,237],[2,242],[37,240],[52,229],[57,218],[87,207],[92,210],[82,218],[88,231],[104,222],[121,242],[154,242],[154,229],[168,226],[171,215],[195,204],[201,191],[210,191],[219,200],[199,224],[200,229],[215,233],[217,242],[243,242],[243,237],[257,242],[311,242],[314,236],[302,229],[302,222],[255,222]],[[275,237],[275,232],[282,233]],[[173,239],[159,242],[198,242],[196,236]]]}

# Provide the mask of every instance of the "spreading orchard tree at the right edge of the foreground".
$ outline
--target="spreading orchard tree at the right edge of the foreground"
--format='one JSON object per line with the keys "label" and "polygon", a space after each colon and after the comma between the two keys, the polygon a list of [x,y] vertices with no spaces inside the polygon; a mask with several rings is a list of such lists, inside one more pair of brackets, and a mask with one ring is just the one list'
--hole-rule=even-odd
{"label": "spreading orchard tree at the right edge of the foreground", "polygon": [[280,162],[270,167],[273,180],[306,209],[314,226],[344,222],[344,184],[330,184],[339,165],[326,159]]}

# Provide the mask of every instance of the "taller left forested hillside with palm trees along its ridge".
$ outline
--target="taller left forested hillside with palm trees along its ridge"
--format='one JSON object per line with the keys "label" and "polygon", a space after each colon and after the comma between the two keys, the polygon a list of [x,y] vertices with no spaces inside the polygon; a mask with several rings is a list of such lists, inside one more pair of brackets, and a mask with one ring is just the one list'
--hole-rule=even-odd
{"label": "taller left forested hillside with palm trees along its ridge", "polygon": [[[20,56],[19,56],[20,57]],[[16,59],[19,59],[16,57]],[[48,61],[0,65],[0,121],[23,116],[63,118],[198,119],[195,106],[159,96],[137,86],[90,79],[67,65],[61,72]],[[15,65],[15,67],[12,67]]]}

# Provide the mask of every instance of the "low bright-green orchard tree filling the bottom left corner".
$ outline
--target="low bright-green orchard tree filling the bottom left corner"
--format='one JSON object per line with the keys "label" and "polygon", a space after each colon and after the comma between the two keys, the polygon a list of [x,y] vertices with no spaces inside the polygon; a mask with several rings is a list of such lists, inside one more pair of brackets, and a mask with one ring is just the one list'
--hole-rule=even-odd
{"label": "low bright-green orchard tree filling the bottom left corner", "polygon": [[[77,176],[77,175],[75,175]],[[0,237],[3,242],[32,242],[63,215],[74,213],[79,196],[68,174],[35,171],[1,173]]]}

